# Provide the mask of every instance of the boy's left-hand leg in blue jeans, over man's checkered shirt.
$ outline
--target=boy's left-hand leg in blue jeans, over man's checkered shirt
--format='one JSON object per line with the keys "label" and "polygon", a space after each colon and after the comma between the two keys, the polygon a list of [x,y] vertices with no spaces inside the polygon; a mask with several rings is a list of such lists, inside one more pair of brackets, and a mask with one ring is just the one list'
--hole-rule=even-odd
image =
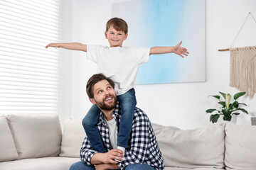
{"label": "boy's left-hand leg in blue jeans, over man's checkered shirt", "polygon": [[100,132],[97,129],[97,120],[100,116],[100,108],[97,105],[92,105],[85,118],[82,120],[82,126],[85,129],[88,140],[92,149],[97,152],[107,152],[107,148],[103,145],[102,139],[100,137]]}

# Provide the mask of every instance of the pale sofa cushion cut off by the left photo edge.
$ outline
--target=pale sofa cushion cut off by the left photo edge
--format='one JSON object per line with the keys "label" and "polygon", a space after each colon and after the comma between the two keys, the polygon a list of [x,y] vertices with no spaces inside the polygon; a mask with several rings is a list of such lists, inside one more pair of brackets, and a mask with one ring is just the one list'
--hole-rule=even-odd
{"label": "pale sofa cushion cut off by the left photo edge", "polygon": [[4,116],[0,116],[0,162],[18,159],[14,138]]}

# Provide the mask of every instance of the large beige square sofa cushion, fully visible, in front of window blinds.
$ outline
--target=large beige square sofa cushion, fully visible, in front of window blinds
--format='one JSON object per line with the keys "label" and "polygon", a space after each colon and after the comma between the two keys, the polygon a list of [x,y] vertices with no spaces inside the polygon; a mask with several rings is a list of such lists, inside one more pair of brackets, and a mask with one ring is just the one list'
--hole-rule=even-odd
{"label": "large beige square sofa cushion, fully visible, in front of window blinds", "polygon": [[18,159],[60,154],[62,132],[57,115],[6,115]]}

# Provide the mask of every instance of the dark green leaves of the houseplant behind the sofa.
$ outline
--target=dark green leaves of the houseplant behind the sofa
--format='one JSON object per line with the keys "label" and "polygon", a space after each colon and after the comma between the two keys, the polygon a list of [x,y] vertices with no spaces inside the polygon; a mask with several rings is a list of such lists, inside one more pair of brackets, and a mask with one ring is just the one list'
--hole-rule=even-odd
{"label": "dark green leaves of the houseplant behind the sofa", "polygon": [[237,100],[240,98],[240,96],[244,96],[245,92],[239,92],[238,94],[234,95],[233,103],[230,103],[231,95],[230,94],[224,94],[222,92],[219,92],[221,96],[225,99],[225,101],[220,101],[220,96],[215,95],[211,96],[218,99],[218,103],[220,104],[220,109],[210,108],[206,110],[206,113],[213,113],[217,112],[216,114],[210,115],[210,122],[216,123],[218,121],[218,118],[220,118],[220,115],[223,115],[223,120],[230,121],[233,115],[239,115],[239,111],[242,111],[243,113],[248,114],[245,109],[240,108],[240,106],[247,106],[245,103],[239,103]]}

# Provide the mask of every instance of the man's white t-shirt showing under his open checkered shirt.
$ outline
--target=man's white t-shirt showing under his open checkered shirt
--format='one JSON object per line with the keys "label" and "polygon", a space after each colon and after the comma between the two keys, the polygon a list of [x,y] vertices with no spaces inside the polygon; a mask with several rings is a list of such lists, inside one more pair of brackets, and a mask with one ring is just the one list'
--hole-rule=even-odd
{"label": "man's white t-shirt showing under his open checkered shirt", "polygon": [[105,118],[105,123],[107,123],[110,135],[110,145],[113,149],[117,149],[117,122],[112,118],[112,120],[107,121]]}

